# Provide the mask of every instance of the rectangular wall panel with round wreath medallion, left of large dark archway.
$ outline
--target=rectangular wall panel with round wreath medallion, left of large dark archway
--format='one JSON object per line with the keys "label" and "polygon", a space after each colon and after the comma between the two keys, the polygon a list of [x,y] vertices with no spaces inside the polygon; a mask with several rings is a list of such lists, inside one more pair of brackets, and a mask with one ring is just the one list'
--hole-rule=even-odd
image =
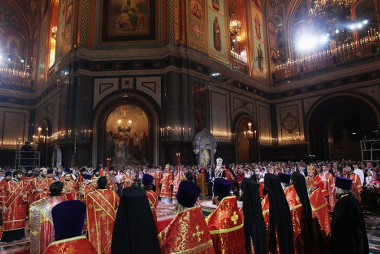
{"label": "rectangular wall panel with round wreath medallion, left of large dark archway", "polygon": [[298,105],[280,107],[281,141],[300,140]]}

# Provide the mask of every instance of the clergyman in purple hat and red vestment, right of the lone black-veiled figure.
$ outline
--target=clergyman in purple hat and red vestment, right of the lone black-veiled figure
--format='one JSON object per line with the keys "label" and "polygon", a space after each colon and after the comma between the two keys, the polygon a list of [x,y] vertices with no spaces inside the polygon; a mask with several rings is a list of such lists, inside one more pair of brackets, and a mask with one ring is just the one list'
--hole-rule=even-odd
{"label": "clergyman in purple hat and red vestment, right of the lone black-veiled figure", "polygon": [[176,197],[179,212],[158,234],[161,253],[215,253],[203,212],[199,206],[194,207],[199,193],[193,182],[181,182]]}

